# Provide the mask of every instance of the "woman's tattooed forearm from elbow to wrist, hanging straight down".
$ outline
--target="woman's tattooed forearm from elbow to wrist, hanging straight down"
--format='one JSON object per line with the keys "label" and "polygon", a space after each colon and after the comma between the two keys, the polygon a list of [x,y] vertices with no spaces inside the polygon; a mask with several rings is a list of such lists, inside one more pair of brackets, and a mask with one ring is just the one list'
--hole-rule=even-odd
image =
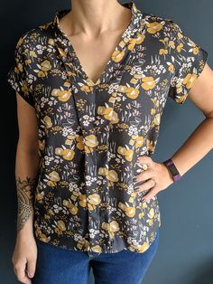
{"label": "woman's tattooed forearm from elbow to wrist, hanging straight down", "polygon": [[26,149],[18,142],[15,159],[15,183],[17,190],[17,232],[32,234],[33,198],[38,180],[39,155],[36,149]]}

